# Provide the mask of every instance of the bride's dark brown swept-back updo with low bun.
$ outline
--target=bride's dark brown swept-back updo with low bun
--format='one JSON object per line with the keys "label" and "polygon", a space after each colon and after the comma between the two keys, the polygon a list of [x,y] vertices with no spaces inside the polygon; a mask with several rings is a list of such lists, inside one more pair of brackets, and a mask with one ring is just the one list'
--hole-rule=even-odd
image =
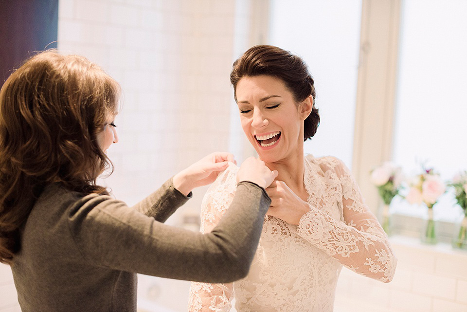
{"label": "bride's dark brown swept-back updo with low bun", "polygon": [[[293,94],[295,102],[300,103],[310,95],[316,97],[313,77],[308,72],[305,61],[289,51],[271,45],[256,45],[247,50],[234,62],[230,82],[234,86],[234,97],[238,81],[244,76],[268,75],[281,79]],[[311,139],[320,125],[320,114],[313,110],[305,119],[304,141]]]}

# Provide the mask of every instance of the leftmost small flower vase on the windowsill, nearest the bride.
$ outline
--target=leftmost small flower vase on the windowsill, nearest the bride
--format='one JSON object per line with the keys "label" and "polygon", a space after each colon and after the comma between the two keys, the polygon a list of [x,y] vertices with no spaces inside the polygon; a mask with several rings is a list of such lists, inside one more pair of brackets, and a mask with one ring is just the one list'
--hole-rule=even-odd
{"label": "leftmost small flower vase on the windowsill, nearest the bride", "polygon": [[372,170],[371,181],[377,187],[379,196],[384,202],[381,225],[383,230],[391,235],[389,204],[401,189],[402,170],[391,162],[385,162]]}

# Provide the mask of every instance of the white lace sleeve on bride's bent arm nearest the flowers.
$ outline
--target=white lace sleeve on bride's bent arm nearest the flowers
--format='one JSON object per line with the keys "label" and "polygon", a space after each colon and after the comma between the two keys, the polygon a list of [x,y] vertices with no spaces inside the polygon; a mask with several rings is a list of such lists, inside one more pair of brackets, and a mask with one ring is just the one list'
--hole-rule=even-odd
{"label": "white lace sleeve on bride's bent arm nearest the flowers", "polygon": [[334,170],[342,187],[344,222],[310,205],[310,211],[300,220],[299,231],[305,239],[349,269],[390,282],[397,260],[388,237],[364,203],[349,169],[340,160],[335,160]]}

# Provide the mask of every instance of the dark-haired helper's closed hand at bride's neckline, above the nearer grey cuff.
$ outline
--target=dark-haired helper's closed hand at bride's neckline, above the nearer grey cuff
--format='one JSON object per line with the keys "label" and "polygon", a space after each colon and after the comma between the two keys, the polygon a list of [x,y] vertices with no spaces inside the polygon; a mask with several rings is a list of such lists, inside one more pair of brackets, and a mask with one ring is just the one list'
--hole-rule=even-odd
{"label": "dark-haired helper's closed hand at bride's neckline, above the nearer grey cuff", "polygon": [[237,183],[250,181],[266,188],[274,181],[277,174],[277,170],[269,170],[263,161],[249,157],[243,162],[237,172]]}

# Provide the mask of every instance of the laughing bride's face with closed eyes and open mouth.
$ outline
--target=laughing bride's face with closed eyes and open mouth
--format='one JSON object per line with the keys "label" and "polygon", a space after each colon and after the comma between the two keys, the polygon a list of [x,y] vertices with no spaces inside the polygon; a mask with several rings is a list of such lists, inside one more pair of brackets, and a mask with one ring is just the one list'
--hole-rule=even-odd
{"label": "laughing bride's face with closed eyes and open mouth", "polygon": [[303,103],[294,101],[281,79],[246,76],[235,92],[243,131],[261,160],[279,162],[303,149]]}

